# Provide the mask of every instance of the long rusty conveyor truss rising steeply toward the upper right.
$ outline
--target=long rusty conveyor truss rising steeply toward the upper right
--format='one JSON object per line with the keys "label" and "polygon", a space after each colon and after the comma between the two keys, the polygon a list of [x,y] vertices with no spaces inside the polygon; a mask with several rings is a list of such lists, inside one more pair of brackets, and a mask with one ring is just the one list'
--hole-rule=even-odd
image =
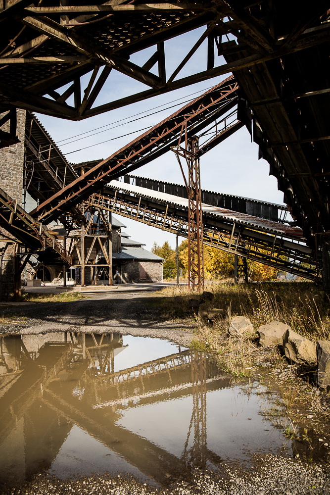
{"label": "long rusty conveyor truss rising steeply toward the upper right", "polygon": [[237,91],[233,76],[225,79],[41,202],[31,214],[46,223],[57,218],[111,179],[141,167],[177,145],[184,132],[190,137],[213,123],[236,105]]}

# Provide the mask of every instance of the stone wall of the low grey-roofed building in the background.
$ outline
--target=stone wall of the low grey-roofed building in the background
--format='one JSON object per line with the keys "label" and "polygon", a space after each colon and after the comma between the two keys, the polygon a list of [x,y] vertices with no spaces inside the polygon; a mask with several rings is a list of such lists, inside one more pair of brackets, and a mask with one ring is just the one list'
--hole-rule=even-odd
{"label": "stone wall of the low grey-roofed building in the background", "polygon": [[[119,272],[119,270],[118,270]],[[118,273],[120,275],[120,272]],[[158,261],[130,261],[121,267],[123,283],[161,282],[163,265]]]}

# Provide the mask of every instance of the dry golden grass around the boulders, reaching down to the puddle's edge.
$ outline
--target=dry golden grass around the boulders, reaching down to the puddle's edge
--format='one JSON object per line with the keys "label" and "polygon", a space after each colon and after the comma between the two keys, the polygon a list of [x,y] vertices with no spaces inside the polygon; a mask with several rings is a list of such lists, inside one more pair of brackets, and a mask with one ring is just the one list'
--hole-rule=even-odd
{"label": "dry golden grass around the boulders, reaching down to the puddle's edge", "polygon": [[[196,350],[214,352],[219,366],[235,377],[249,377],[253,374],[258,356],[260,358],[260,349],[255,346],[256,332],[244,335],[243,339],[228,338],[230,322],[235,316],[249,318],[255,330],[271,321],[282,321],[314,342],[330,338],[329,301],[312,283],[264,282],[248,286],[219,283],[207,290],[214,295],[214,300],[207,303],[208,306],[224,309],[223,317],[213,326],[200,321],[197,323],[197,315],[189,310],[189,299],[200,298],[200,294],[189,291],[187,286],[164,288],[158,296],[162,297],[161,305],[167,318],[190,317],[190,321],[196,321],[191,346]],[[284,365],[277,349],[270,353],[267,360],[277,367],[282,368]],[[290,411],[292,403],[289,396],[283,399],[286,401],[286,409]]]}

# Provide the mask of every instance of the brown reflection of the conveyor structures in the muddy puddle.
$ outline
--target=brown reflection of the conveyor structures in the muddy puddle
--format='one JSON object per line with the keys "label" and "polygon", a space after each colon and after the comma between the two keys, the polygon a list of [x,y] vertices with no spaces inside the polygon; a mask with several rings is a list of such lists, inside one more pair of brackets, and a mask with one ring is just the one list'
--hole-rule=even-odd
{"label": "brown reflection of the conveyor structures in the muddy puddle", "polygon": [[[149,341],[153,347],[158,342],[159,348],[140,355],[134,352],[133,344],[123,345],[120,334],[64,332],[1,337],[2,480],[24,480],[59,464],[55,460],[63,455],[61,447],[74,426],[108,449],[106,470],[110,474],[126,471],[165,484],[169,474],[172,479],[188,480],[193,466],[203,468],[221,462],[217,449],[207,445],[206,396],[228,388],[229,378],[220,376],[216,364],[203,352],[179,348],[173,353],[173,345],[165,341],[125,339],[132,343],[140,339],[142,348]],[[162,356],[164,351],[167,355]],[[145,356],[147,362],[143,362]],[[128,361],[133,361],[133,366],[128,367]],[[122,362],[119,369],[117,362]],[[189,426],[181,428],[185,440],[178,454],[162,441],[139,433],[135,420],[133,427],[125,426],[130,411],[136,410],[141,416],[142,407],[142,416],[147,417],[150,407],[178,400],[182,407],[179,404],[176,421],[180,423],[180,407],[183,411],[183,401],[188,398],[192,407],[189,405],[185,425]],[[157,426],[159,431],[163,426]],[[79,465],[80,473],[89,474],[88,466],[79,464],[77,457],[73,449],[65,463],[73,462],[73,466]],[[102,474],[104,469],[103,464],[93,464],[95,472]]]}

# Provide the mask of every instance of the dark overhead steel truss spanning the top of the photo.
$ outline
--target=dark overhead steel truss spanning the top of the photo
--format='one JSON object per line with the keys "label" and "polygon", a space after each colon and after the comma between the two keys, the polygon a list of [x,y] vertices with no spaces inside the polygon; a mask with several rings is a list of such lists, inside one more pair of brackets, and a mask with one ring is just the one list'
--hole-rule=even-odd
{"label": "dark overhead steel truss spanning the top of the photo", "polygon": [[[290,56],[329,41],[329,24],[320,22],[328,8],[327,1],[302,9],[278,0],[94,0],[89,5],[2,0],[0,111],[14,106],[80,120]],[[181,35],[199,28],[203,32],[195,41],[191,36],[186,54],[168,74],[166,43],[180,43]],[[200,47],[205,63],[182,77]],[[151,56],[144,63],[133,61],[145,49],[152,49]],[[110,99],[94,106],[104,85],[111,88],[113,71],[145,88],[114,100],[110,90]]]}

